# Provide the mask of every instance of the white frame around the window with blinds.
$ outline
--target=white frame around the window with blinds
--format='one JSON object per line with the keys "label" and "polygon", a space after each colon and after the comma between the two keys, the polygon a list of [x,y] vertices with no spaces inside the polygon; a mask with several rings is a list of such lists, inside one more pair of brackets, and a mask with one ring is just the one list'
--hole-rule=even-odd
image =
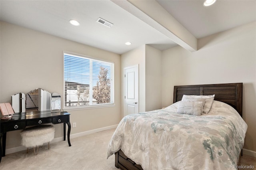
{"label": "white frame around the window with blinds", "polygon": [[[92,104],[92,105],[76,105],[76,106],[66,106],[66,83],[65,83],[65,55],[69,55],[72,57],[83,57],[86,58],[88,60],[90,60],[90,63],[92,63],[91,61],[99,61],[102,63],[109,63],[110,64],[110,103],[100,103],[100,104]],[[90,71],[92,67],[90,67]],[[91,78],[90,79],[90,92],[89,95],[92,96],[93,94],[93,86],[92,86],[92,82],[91,82]],[[70,81],[72,82],[72,81]],[[64,87],[64,97],[63,97],[63,109],[65,110],[70,110],[70,109],[76,109],[76,110],[81,110],[81,109],[93,109],[93,108],[102,108],[102,107],[113,107],[115,106],[114,104],[114,62],[113,61],[107,61],[104,59],[99,59],[96,57],[91,57],[88,55],[81,55],[81,54],[77,54],[77,53],[72,53],[72,52],[67,52],[67,51],[63,51],[63,87]],[[89,103],[92,103],[92,101],[89,101]]]}

